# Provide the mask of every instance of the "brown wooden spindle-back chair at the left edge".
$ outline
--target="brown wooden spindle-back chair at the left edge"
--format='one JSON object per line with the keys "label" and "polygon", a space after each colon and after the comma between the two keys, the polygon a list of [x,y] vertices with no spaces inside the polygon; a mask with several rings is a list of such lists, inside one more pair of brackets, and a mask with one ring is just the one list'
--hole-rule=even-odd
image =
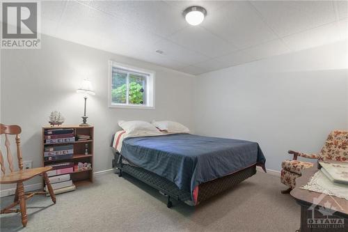
{"label": "brown wooden spindle-back chair at the left edge", "polygon": [[[49,183],[49,178],[47,176],[46,171],[52,169],[52,167],[39,167],[36,169],[24,169],[23,170],[23,160],[22,160],[22,152],[20,149],[20,139],[19,134],[22,132],[21,127],[18,125],[3,125],[0,124],[1,132],[0,134],[5,134],[5,146],[7,150],[7,160],[8,167],[10,169],[10,173],[6,174],[6,168],[3,161],[3,155],[0,150],[0,164],[1,164],[1,180],[0,184],[13,184],[17,183],[16,192],[15,192],[15,200],[10,206],[1,210],[2,213],[10,213],[10,212],[21,212],[22,214],[22,224],[26,226],[26,222],[28,222],[28,217],[26,215],[26,200],[30,199],[31,196],[35,194],[46,194],[46,192],[26,192],[24,193],[24,185],[23,182],[25,180],[29,180],[34,176],[42,175],[45,183],[48,187],[49,194],[51,194],[52,201],[56,203],[56,196],[54,196],[54,192],[51,184]],[[18,168],[19,171],[13,171],[13,157],[10,150],[10,141],[8,140],[8,134],[15,134],[15,141],[17,144],[17,158],[18,158]],[[13,207],[19,204],[20,209],[12,209]]]}

